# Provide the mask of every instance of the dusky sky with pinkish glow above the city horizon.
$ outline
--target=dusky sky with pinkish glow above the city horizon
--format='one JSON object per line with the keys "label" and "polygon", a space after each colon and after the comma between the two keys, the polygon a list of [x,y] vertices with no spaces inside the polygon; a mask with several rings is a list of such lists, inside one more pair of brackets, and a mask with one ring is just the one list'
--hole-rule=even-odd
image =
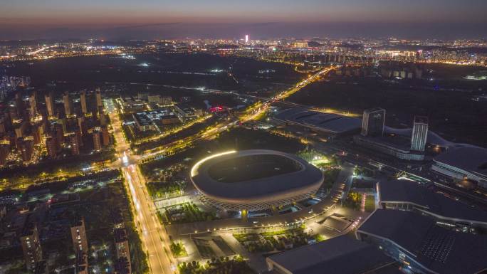
{"label": "dusky sky with pinkish glow above the city horizon", "polygon": [[0,38],[485,38],[486,0],[0,0]]}

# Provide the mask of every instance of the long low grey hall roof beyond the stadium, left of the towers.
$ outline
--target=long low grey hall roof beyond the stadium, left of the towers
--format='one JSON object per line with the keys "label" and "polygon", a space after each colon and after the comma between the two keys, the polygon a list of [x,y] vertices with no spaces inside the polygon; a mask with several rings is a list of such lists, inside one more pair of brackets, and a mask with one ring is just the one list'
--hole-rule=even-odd
{"label": "long low grey hall roof beyond the stadium, left of the towers", "polygon": [[274,118],[276,120],[295,123],[305,127],[315,127],[332,134],[358,130],[362,125],[360,119],[357,118],[346,117],[334,113],[310,111],[303,108],[284,110]]}

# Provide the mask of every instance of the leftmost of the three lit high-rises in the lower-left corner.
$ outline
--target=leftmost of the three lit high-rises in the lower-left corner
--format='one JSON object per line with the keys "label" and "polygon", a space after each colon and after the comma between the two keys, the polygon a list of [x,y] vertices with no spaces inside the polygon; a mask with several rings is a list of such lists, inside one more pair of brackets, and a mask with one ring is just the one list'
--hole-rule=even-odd
{"label": "leftmost of the three lit high-rises in the lower-left corner", "polygon": [[37,226],[28,224],[23,230],[20,242],[27,269],[33,270],[36,263],[42,260],[41,241],[39,241]]}

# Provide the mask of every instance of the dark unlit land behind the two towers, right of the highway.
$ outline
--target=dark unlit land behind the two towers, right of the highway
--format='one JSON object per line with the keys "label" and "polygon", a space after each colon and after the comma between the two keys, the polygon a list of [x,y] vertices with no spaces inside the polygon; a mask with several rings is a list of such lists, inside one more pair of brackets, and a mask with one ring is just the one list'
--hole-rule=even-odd
{"label": "dark unlit land behind the two towers, right of the highway", "polygon": [[386,125],[391,127],[411,127],[414,115],[426,115],[430,130],[445,139],[487,147],[486,101],[471,100],[472,92],[408,84],[389,84],[375,78],[332,80],[313,83],[289,100],[357,114],[370,107],[384,107]]}

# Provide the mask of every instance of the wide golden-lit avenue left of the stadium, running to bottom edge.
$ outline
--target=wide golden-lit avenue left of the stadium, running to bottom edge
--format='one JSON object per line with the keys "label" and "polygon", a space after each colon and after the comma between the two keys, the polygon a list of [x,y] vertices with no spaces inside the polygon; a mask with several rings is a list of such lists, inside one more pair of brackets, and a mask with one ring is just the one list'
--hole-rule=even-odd
{"label": "wide golden-lit avenue left of the stadium, running to bottom edge", "polygon": [[135,226],[147,251],[150,272],[154,274],[174,273],[176,265],[172,263],[174,260],[169,257],[167,233],[157,218],[155,205],[145,188],[145,179],[137,164],[134,163],[136,159],[128,152],[130,145],[127,144],[123,136],[122,122],[116,112],[110,113],[110,120],[116,142],[115,151],[120,158],[117,164],[122,167],[127,192],[132,198]]}

